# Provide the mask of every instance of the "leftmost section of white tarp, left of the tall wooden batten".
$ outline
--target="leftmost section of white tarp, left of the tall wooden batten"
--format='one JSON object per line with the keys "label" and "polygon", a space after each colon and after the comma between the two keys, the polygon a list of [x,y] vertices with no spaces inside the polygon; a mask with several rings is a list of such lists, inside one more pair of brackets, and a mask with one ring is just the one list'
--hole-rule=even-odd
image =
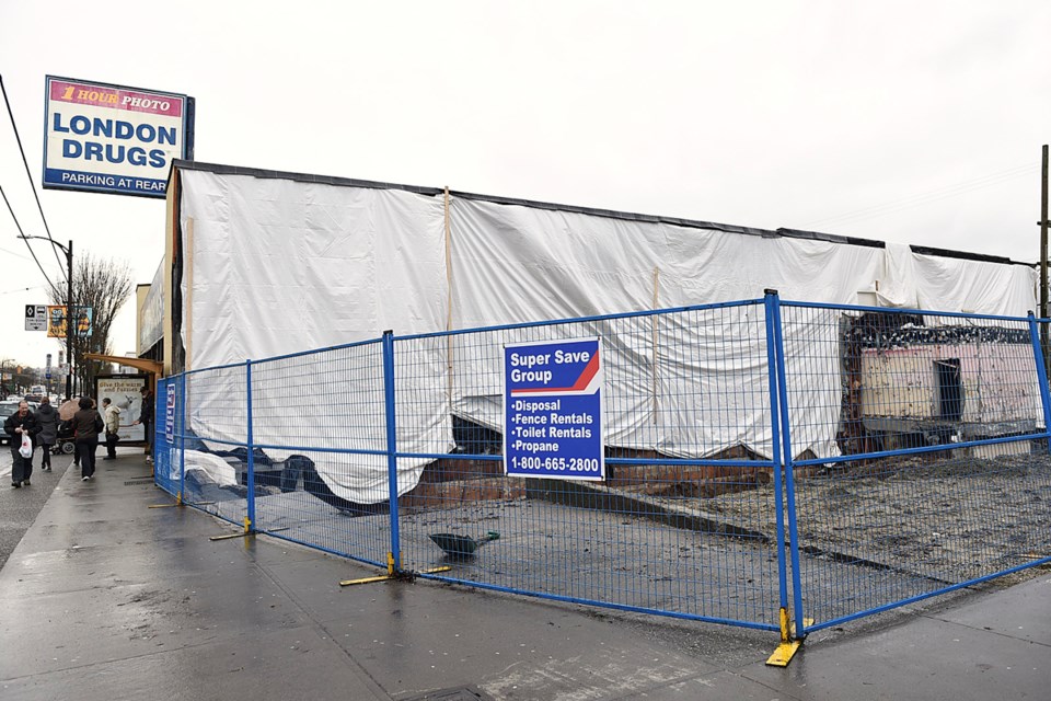
{"label": "leftmost section of white tarp, left of the tall wooden batten", "polygon": [[[188,262],[181,283],[182,333],[189,369],[374,338],[384,329],[407,333],[444,325],[440,199],[399,189],[184,171],[181,205]],[[444,367],[442,358],[416,361],[430,364],[439,377]],[[280,363],[261,364],[256,378],[265,380],[269,374],[273,387],[281,378]],[[287,394],[267,391],[265,381],[254,379],[255,413],[287,417],[255,422],[255,443],[316,446],[321,427],[340,417],[331,415],[327,402],[311,401],[310,395],[317,389],[330,398],[374,394],[376,366],[371,372],[358,368],[333,364],[316,378],[319,387],[303,380],[310,369],[289,371],[300,375],[294,381],[302,386],[294,409],[288,406]],[[382,406],[379,389],[380,403],[370,406]],[[430,401],[414,402],[412,411],[427,420],[406,421],[415,430],[399,432],[403,451],[452,448],[447,395],[426,397]],[[228,426],[246,425],[244,406],[218,393],[200,393],[194,401],[189,418],[197,435],[243,440],[243,434]],[[222,421],[209,422],[208,416]],[[324,447],[374,450],[385,445],[381,411],[356,412],[353,421],[340,424]],[[293,452],[267,449],[275,460]],[[359,503],[389,496],[385,460],[320,452],[311,458],[337,496]],[[399,460],[403,493],[415,486],[427,462]]]}

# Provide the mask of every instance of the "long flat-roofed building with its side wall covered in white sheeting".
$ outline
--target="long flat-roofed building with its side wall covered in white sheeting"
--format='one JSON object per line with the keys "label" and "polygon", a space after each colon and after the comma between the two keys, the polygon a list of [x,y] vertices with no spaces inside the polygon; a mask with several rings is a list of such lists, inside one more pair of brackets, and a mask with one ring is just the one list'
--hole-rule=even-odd
{"label": "long flat-roofed building with its side wall covered in white sheeting", "polygon": [[[754,299],[766,288],[784,299],[829,303],[1007,315],[1036,308],[1033,267],[995,256],[187,161],[176,161],[170,175],[165,251],[152,286],[160,289],[147,295],[152,315],[140,347],[162,355],[170,374],[376,338],[388,329],[412,334],[663,309]],[[719,334],[711,331],[693,330],[689,341],[712,347],[714,358]],[[728,367],[720,382],[765,382],[765,340],[754,341],[761,363],[747,371]],[[652,365],[658,395],[691,397],[691,383],[711,381],[696,367],[615,346],[609,344],[604,363]],[[440,348],[427,353],[417,361],[434,366],[434,391],[405,409],[419,416],[400,422],[426,428],[400,430],[400,450],[452,449],[453,417],[499,430],[498,388],[473,387],[470,372],[447,381],[449,358]],[[498,354],[490,361],[498,363]],[[825,370],[816,381],[827,386],[813,391],[838,398],[839,368]],[[325,381],[353,388],[356,378]],[[418,397],[418,383],[414,390]],[[634,406],[639,402],[631,394],[644,390],[607,391],[620,393],[620,405]],[[650,388],[645,392],[648,402]],[[763,402],[738,407],[750,414],[739,429],[695,425],[689,402],[663,405],[672,407],[701,439],[684,441],[677,429],[655,430],[625,414],[605,418],[607,444],[690,458],[736,445],[772,452],[770,432],[757,429],[771,424]],[[838,455],[838,400],[792,407],[821,414],[794,422],[807,427],[795,445],[817,457]],[[200,409],[199,416],[209,415]],[[219,423],[194,425],[190,418],[200,435],[239,439]],[[382,422],[381,415],[356,422],[328,447],[382,445]],[[256,430],[258,443],[287,440],[266,432]],[[319,458],[317,471],[340,497],[385,498],[382,461],[362,459],[360,469],[348,471],[351,459]],[[403,491],[426,462],[400,461]]]}

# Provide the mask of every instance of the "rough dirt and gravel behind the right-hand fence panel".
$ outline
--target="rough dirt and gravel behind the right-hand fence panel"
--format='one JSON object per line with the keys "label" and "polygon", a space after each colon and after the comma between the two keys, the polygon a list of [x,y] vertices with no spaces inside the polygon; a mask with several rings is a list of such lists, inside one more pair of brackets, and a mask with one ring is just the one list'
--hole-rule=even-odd
{"label": "rough dirt and gravel behind the right-hand fence panel", "polygon": [[[800,548],[959,583],[1051,556],[1051,460],[920,458],[796,481]],[[773,485],[703,508],[776,532]],[[748,506],[747,509],[741,507]],[[759,519],[757,519],[759,515]]]}

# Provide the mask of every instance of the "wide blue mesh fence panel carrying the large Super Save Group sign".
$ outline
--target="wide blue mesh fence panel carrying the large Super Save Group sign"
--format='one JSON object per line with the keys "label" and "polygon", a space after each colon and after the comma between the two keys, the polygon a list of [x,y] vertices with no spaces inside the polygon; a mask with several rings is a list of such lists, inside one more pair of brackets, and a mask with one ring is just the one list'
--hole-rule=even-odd
{"label": "wide blue mesh fence panel carrying the large Super Save Group sign", "polygon": [[[607,479],[505,476],[504,347],[593,336],[604,354]],[[776,531],[761,518],[773,474],[761,304],[394,345],[399,388],[412,388],[397,395],[399,435],[406,425],[424,428],[419,417],[429,413],[418,403],[438,397],[451,409],[451,452],[421,458],[419,482],[400,502],[405,567],[444,566],[438,576],[496,588],[776,627]],[[723,509],[712,508],[715,497]],[[431,538],[494,533],[472,554],[450,554]]]}

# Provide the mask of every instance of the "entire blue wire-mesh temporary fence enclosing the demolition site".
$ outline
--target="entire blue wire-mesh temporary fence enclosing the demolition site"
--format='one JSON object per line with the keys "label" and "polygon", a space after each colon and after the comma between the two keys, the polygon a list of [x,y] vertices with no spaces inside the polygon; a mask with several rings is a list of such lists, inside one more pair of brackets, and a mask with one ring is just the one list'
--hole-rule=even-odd
{"label": "entire blue wire-mesh temporary fence enclosing the demolition site", "polygon": [[[163,380],[155,479],[380,566],[806,632],[1051,560],[1049,323],[769,295],[389,333]],[[505,348],[580,338],[604,475],[508,476]]]}

